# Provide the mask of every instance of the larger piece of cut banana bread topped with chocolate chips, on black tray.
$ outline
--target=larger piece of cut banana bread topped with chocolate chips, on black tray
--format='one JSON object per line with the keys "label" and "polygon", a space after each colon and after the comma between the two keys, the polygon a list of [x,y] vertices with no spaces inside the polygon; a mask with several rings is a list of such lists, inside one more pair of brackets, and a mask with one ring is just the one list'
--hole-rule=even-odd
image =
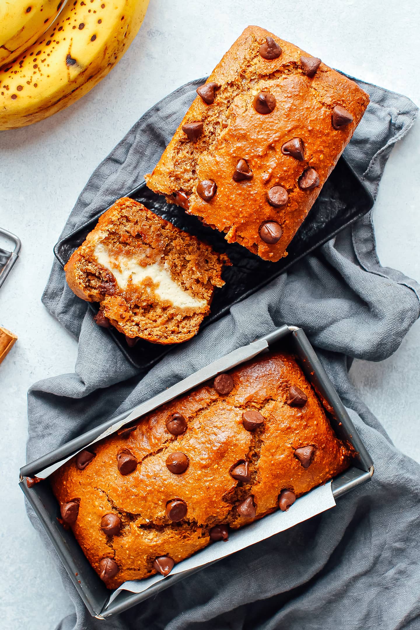
{"label": "larger piece of cut banana bread topped with chocolate chips, on black tray", "polygon": [[258,26],[244,30],[197,92],[147,185],[229,243],[279,260],[368,95]]}

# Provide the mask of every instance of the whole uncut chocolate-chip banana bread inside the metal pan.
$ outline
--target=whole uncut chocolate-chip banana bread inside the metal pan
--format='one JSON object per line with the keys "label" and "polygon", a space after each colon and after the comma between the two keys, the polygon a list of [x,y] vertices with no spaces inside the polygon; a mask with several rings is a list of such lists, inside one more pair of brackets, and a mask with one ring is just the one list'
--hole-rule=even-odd
{"label": "whole uncut chocolate-chip banana bread inside the metal pan", "polygon": [[287,510],[350,460],[297,362],[273,353],[83,450],[52,488],[62,520],[116,588],[167,575],[230,528]]}

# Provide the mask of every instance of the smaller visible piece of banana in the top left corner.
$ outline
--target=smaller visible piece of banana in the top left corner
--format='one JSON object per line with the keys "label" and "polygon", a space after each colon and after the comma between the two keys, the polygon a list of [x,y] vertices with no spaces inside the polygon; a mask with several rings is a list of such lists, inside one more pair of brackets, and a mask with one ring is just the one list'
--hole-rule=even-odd
{"label": "smaller visible piece of banana in the top left corner", "polygon": [[45,33],[64,0],[0,0],[0,66]]}

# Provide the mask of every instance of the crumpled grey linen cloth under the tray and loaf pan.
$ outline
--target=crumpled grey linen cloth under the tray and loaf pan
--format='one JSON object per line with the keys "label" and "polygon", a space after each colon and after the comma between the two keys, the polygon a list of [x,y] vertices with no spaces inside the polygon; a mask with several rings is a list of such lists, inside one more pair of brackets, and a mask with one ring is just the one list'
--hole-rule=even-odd
{"label": "crumpled grey linen cloth under the tray and loaf pan", "polygon": [[[91,176],[62,236],[142,181],[202,82],[179,88],[140,118]],[[344,157],[375,197],[390,150],[411,127],[417,108],[404,96],[358,83],[371,103]],[[58,627],[418,628],[420,467],[395,449],[358,399],[348,369],[353,357],[378,361],[399,347],[419,316],[419,295],[414,280],[380,265],[369,214],[139,379],[54,263],[43,303],[79,338],[79,355],[74,374],[30,389],[28,461],[286,322],[309,335],[375,462],[373,481],[339,499],[336,508],[225,558],[109,622],[89,616],[57,558],[76,609]]]}

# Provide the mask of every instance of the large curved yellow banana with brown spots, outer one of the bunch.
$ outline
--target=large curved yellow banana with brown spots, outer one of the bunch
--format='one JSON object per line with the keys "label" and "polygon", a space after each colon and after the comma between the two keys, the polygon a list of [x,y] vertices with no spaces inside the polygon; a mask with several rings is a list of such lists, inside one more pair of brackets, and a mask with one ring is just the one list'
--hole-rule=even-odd
{"label": "large curved yellow banana with brown spots, outer one of the bunch", "polygon": [[99,83],[121,59],[149,0],[70,0],[57,20],[0,71],[0,130],[59,112]]}

